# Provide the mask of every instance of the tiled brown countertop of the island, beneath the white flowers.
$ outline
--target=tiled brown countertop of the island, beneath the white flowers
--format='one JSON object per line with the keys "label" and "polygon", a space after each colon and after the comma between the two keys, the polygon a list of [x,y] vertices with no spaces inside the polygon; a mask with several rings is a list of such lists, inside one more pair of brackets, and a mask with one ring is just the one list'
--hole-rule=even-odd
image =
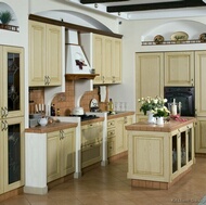
{"label": "tiled brown countertop of the island, beneath the white flowers", "polygon": [[149,124],[147,121],[139,121],[139,123],[134,123],[134,124],[126,126],[126,130],[170,132],[183,126],[186,126],[191,123],[196,121],[196,118],[194,117],[181,117],[180,119],[182,120],[170,119],[170,121],[167,121],[164,125]]}

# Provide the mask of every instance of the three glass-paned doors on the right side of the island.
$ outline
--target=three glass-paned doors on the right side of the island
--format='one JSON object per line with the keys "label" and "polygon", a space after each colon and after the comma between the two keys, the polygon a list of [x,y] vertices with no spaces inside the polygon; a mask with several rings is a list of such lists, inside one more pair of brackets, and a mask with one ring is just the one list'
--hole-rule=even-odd
{"label": "three glass-paned doors on the right side of the island", "polygon": [[194,159],[193,125],[175,130],[171,134],[171,172],[172,179],[188,169]]}

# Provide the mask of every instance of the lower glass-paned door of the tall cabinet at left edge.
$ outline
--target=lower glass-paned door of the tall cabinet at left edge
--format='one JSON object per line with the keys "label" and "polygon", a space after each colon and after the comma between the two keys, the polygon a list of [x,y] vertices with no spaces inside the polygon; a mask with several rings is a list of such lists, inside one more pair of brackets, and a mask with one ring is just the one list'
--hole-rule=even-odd
{"label": "lower glass-paned door of the tall cabinet at left edge", "polygon": [[24,117],[0,120],[0,194],[24,185]]}

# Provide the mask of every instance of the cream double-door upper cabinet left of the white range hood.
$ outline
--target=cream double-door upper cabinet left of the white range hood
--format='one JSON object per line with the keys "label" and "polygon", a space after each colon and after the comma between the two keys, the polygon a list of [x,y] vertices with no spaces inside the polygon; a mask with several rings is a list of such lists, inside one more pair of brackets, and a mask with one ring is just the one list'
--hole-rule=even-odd
{"label": "cream double-door upper cabinet left of the white range hood", "polygon": [[29,86],[61,86],[62,28],[29,21]]}

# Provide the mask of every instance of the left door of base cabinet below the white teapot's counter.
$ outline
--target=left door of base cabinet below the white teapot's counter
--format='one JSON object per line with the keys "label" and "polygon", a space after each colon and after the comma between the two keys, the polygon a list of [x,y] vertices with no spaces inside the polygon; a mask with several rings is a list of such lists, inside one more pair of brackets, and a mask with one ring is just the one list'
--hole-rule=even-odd
{"label": "left door of base cabinet below the white teapot's counter", "polygon": [[60,131],[48,133],[48,145],[47,145],[47,176],[48,182],[53,181],[61,177],[60,163],[61,163],[61,140]]}

